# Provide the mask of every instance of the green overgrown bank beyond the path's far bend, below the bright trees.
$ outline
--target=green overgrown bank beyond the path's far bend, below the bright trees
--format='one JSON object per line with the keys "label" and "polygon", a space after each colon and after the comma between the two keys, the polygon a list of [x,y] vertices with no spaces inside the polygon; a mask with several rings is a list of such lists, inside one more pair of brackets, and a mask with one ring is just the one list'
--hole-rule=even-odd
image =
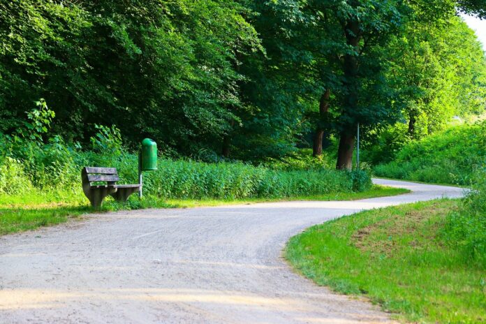
{"label": "green overgrown bank beyond the path's far bend, below the bright trees", "polygon": [[442,184],[471,183],[474,171],[485,163],[486,124],[454,126],[413,140],[397,153],[395,161],[378,165],[378,177]]}

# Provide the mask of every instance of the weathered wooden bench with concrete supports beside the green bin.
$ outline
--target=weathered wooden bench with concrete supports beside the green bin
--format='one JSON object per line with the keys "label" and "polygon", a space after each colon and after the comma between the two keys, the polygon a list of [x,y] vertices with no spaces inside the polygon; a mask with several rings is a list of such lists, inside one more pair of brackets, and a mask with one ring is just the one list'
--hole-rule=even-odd
{"label": "weathered wooden bench with concrete supports beside the green bin", "polygon": [[[86,167],[81,170],[82,191],[87,196],[91,206],[101,207],[103,199],[110,195],[115,200],[126,202],[128,196],[140,191],[141,184],[117,184],[120,178],[116,168]],[[94,185],[93,182],[106,182]]]}

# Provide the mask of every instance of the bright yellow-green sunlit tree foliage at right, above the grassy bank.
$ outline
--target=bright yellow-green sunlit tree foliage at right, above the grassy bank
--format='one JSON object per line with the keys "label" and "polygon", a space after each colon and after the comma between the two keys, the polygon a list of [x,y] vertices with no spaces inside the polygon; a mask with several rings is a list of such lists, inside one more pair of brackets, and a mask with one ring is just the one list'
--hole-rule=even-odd
{"label": "bright yellow-green sunlit tree foliage at right, above the grassy bank", "polygon": [[475,34],[455,16],[421,24],[428,15],[415,10],[406,31],[390,43],[390,78],[411,138],[486,107],[486,60]]}

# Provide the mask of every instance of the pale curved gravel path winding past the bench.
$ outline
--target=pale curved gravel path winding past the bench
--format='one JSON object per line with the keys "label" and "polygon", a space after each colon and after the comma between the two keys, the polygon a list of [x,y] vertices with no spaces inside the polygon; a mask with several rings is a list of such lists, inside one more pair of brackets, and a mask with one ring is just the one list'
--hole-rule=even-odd
{"label": "pale curved gravel path winding past the bench", "polygon": [[91,215],[0,237],[0,323],[378,323],[377,307],[294,274],[288,238],[361,209],[462,196],[277,202]]}

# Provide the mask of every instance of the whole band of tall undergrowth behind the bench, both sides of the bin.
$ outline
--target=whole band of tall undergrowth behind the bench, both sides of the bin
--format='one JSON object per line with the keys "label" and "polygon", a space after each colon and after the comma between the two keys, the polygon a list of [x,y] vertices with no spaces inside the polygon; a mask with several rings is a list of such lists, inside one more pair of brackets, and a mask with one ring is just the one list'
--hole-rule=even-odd
{"label": "whole band of tall undergrowth behind the bench, both sides of the bin", "polygon": [[[84,166],[115,167],[122,182],[136,183],[138,156],[124,149],[117,128],[98,128],[91,147],[86,149],[77,143],[68,145],[59,136],[45,142],[35,131],[31,137],[0,135],[0,195],[50,193],[60,200],[80,196],[80,170]],[[144,174],[144,193],[161,198],[285,198],[363,191],[370,186],[367,172],[282,170],[241,162],[204,163],[163,157],[158,170]]]}

